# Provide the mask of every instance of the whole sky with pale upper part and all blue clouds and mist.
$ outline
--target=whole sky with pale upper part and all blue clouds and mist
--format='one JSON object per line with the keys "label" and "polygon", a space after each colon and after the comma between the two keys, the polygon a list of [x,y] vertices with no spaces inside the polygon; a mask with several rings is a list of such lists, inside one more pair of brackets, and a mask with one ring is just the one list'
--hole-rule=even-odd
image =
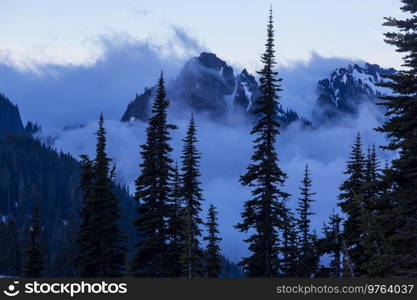
{"label": "whole sky with pale upper part and all blue clouds and mist", "polygon": [[[55,146],[74,157],[94,153],[102,111],[118,180],[132,186],[145,125],[119,122],[127,103],[155,84],[161,69],[172,78],[200,51],[215,52],[235,74],[242,67],[258,69],[271,2],[284,79],[282,103],[302,116],[311,113],[317,81],[335,68],[364,61],[401,64],[383,42],[381,26],[384,16],[401,15],[399,0],[0,0],[0,92],[19,105],[24,122],[40,123],[39,138],[56,137]],[[288,174],[285,188],[293,195],[290,207],[296,205],[304,166],[310,164],[317,192],[315,229],[337,208],[337,189],[357,132],[365,146],[386,143],[373,131],[380,120],[380,111],[365,106],[347,123],[314,131],[294,124],[279,137],[280,163]],[[179,159],[187,124],[182,119],[174,123],[179,125],[173,134],[174,158]],[[63,130],[76,124],[85,126]],[[250,195],[238,182],[252,152],[250,128],[204,118],[197,118],[197,125],[203,205],[219,206],[222,247],[238,260],[247,254],[244,236],[233,225]],[[392,157],[382,151],[379,156],[382,161]]]}

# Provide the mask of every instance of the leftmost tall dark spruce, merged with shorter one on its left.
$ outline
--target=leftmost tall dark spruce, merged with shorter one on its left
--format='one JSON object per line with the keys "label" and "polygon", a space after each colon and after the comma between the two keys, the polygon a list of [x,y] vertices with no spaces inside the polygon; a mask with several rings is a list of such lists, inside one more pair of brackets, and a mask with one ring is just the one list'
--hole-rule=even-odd
{"label": "leftmost tall dark spruce, merged with shorter one on its left", "polygon": [[119,277],[124,272],[125,236],[118,225],[120,208],[113,193],[113,171],[106,153],[102,114],[96,136],[94,161],[82,156],[84,198],[77,237],[80,253],[76,262],[82,277]]}

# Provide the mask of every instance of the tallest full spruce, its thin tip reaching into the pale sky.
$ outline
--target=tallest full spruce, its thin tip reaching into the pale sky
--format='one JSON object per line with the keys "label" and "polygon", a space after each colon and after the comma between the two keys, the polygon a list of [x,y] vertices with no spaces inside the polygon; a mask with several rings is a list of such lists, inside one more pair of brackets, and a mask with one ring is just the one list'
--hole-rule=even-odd
{"label": "tallest full spruce, its thin tip reaching into the pale sky", "polygon": [[244,204],[242,222],[236,225],[241,232],[251,231],[245,240],[251,255],[240,265],[249,277],[274,277],[279,269],[279,229],[285,219],[285,200],[288,194],[282,191],[286,174],[278,165],[275,149],[279,134],[277,122],[278,93],[282,90],[278,72],[274,70],[274,28],[272,9],[267,26],[266,50],[261,57],[263,68],[260,75],[261,96],[256,101],[255,114],[258,116],[251,134],[256,138],[252,162],[246,174],[240,178],[244,186],[252,189],[252,199]]}

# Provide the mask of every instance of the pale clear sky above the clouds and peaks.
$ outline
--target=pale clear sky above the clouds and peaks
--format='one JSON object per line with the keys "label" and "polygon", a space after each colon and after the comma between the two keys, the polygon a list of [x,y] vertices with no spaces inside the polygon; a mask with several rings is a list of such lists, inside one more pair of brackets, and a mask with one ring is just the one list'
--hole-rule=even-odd
{"label": "pale clear sky above the clouds and peaks", "polygon": [[88,63],[100,55],[99,36],[127,34],[169,47],[178,26],[220,57],[253,70],[271,3],[283,64],[315,51],[400,65],[381,26],[384,16],[401,14],[399,0],[2,0],[0,58],[21,65]]}

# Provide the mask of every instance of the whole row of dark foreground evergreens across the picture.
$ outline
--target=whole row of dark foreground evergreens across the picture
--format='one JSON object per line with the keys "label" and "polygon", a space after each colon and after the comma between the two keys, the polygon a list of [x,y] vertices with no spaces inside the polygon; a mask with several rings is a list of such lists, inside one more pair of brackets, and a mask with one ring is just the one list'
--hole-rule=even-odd
{"label": "whole row of dark foreground evergreens across the picture", "polygon": [[[417,13],[417,1],[403,0],[404,12]],[[251,190],[235,228],[247,234],[249,255],[240,268],[248,277],[415,277],[417,275],[417,18],[395,20],[397,33],[387,42],[406,53],[403,71],[381,83],[394,93],[382,98],[387,121],[377,130],[387,134],[386,150],[396,158],[383,167],[375,146],[364,151],[357,135],[346,164],[346,180],[340,186],[337,205],[324,223],[322,233],[311,228],[312,203],[316,201],[309,166],[303,170],[298,206],[288,207],[287,175],[277,154],[280,124],[277,110],[282,91],[276,71],[272,10],[267,26],[266,49],[258,72],[261,95],[255,104],[256,121],[251,131],[253,154],[240,182]],[[96,156],[82,156],[79,225],[74,225],[68,261],[72,276],[82,277],[219,277],[225,258],[221,254],[218,210],[210,205],[202,217],[201,153],[196,120],[191,115],[183,139],[181,160],[172,159],[168,122],[169,101],[161,74],[146,141],[141,145],[139,176],[132,221],[137,242],[132,251],[120,222],[120,198],[115,193],[115,169],[106,153],[106,130],[100,116]],[[302,171],[300,170],[300,173]],[[12,219],[0,222],[8,236],[15,230]],[[34,207],[27,230],[28,246],[22,263],[26,276],[42,276],[45,252],[43,226]],[[203,228],[205,229],[203,231]],[[69,239],[71,240],[71,239]],[[10,239],[13,243],[13,239]],[[2,247],[2,253],[9,248]],[[71,254],[68,254],[71,253]],[[14,257],[14,254],[10,257]],[[3,257],[3,256],[2,256]],[[326,262],[323,258],[330,257]],[[1,261],[1,263],[5,263]],[[8,264],[19,264],[11,259]],[[223,269],[223,270],[222,270]]]}

